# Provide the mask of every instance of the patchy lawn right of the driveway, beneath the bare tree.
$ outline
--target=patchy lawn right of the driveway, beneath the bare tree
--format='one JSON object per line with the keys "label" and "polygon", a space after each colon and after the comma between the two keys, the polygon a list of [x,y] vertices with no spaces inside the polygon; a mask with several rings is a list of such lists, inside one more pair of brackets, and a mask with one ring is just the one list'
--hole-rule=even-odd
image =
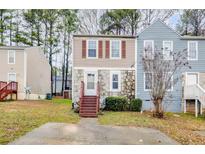
{"label": "patchy lawn right of the driveway, beneath the bare tree", "polygon": [[205,131],[205,117],[195,118],[192,114],[166,113],[164,119],[157,119],[150,112],[104,112],[99,116],[99,122],[104,125],[155,128],[181,144],[205,144],[205,137],[194,132]]}

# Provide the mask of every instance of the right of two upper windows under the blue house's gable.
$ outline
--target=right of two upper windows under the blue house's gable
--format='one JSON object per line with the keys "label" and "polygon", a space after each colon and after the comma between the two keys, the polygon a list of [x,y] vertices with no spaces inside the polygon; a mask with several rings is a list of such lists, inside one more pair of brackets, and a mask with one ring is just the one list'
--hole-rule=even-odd
{"label": "right of two upper windows under the blue house's gable", "polygon": [[163,41],[163,56],[165,60],[173,60],[173,41]]}

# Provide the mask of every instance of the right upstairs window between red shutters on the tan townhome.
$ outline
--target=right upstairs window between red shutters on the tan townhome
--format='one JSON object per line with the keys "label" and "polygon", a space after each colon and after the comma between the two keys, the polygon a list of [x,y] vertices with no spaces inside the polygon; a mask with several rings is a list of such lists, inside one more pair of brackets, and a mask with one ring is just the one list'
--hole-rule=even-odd
{"label": "right upstairs window between red shutters on the tan townhome", "polygon": [[111,59],[120,59],[121,53],[120,53],[120,40],[112,40],[111,41],[111,52],[110,57]]}

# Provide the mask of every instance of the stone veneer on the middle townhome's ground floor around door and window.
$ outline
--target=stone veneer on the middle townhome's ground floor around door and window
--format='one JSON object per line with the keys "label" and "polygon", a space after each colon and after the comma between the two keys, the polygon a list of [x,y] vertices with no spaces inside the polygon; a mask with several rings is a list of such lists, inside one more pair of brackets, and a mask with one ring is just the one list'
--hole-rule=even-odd
{"label": "stone veneer on the middle townhome's ground floor around door and window", "polygon": [[[128,98],[135,97],[135,71],[121,70],[121,91],[110,91],[110,72],[112,70],[101,70],[98,72],[98,81],[100,84],[100,103],[104,106],[105,98],[108,96],[126,96]],[[115,70],[113,70],[115,71]],[[75,106],[80,98],[80,83],[84,81],[84,70],[74,69],[73,71],[73,103]]]}

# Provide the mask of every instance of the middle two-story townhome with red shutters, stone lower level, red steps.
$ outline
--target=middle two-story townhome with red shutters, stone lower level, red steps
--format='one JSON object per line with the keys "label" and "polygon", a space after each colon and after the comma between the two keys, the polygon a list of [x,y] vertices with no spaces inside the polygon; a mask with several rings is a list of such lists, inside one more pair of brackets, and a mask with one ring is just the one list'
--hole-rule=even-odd
{"label": "middle two-story townhome with red shutters, stone lower level, red steps", "polygon": [[108,96],[128,94],[127,82],[135,75],[135,37],[74,35],[72,54],[72,101],[80,105],[81,116],[96,116]]}

